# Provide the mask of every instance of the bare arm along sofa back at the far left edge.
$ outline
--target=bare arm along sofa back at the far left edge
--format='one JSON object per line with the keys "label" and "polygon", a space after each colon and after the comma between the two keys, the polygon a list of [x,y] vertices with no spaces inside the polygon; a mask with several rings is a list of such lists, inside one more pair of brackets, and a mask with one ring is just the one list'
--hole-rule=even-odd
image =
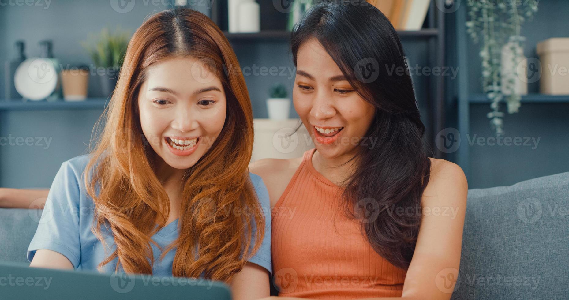
{"label": "bare arm along sofa back at the far left edge", "polygon": [[50,190],[0,188],[0,207],[43,209]]}

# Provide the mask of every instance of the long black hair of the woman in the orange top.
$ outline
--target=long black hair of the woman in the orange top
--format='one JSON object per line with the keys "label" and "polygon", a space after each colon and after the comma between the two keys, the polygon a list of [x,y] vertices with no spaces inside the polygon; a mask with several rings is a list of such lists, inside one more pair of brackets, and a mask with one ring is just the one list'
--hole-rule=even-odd
{"label": "long black hair of the woman in the orange top", "polygon": [[[409,267],[422,216],[431,148],[397,31],[365,1],[322,1],[312,6],[291,36],[294,64],[303,43],[315,38],[365,101],[376,109],[360,143],[353,173],[343,184],[348,212],[361,220],[373,249],[398,268]],[[363,211],[362,211],[363,209]],[[360,212],[361,211],[361,212]]]}

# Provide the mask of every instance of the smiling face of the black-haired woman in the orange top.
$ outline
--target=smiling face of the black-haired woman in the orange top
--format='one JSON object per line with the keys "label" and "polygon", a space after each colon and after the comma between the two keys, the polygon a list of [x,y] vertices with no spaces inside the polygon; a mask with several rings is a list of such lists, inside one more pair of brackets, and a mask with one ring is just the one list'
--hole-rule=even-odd
{"label": "smiling face of the black-haired woman in the orange top", "polygon": [[372,123],[375,108],[365,101],[316,39],[296,56],[294,108],[318,152],[333,159],[351,155]]}

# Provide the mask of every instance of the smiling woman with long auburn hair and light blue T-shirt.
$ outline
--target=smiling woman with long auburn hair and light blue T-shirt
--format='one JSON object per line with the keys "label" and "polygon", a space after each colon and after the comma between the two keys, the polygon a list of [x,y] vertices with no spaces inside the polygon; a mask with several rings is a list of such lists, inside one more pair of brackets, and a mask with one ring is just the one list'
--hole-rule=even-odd
{"label": "smiling woman with long auburn hair and light blue T-shirt", "polygon": [[[248,172],[253,116],[228,40],[190,9],[130,40],[93,151],[64,162],[31,266],[204,277],[269,295],[269,198]],[[36,203],[42,205],[43,203]]]}

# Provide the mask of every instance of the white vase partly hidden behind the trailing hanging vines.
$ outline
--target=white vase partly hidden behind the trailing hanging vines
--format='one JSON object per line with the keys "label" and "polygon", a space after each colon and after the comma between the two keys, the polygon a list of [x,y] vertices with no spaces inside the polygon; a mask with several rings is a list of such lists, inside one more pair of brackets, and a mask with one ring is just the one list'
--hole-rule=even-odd
{"label": "white vase partly hidden behind the trailing hanging vines", "polygon": [[[516,55],[516,61],[514,61],[514,55]],[[502,94],[509,95],[510,88],[517,94],[527,94],[527,65],[523,65],[527,64],[527,60],[523,56],[523,48],[508,42],[502,47],[501,59]],[[509,83],[509,78],[513,79],[514,83]]]}

